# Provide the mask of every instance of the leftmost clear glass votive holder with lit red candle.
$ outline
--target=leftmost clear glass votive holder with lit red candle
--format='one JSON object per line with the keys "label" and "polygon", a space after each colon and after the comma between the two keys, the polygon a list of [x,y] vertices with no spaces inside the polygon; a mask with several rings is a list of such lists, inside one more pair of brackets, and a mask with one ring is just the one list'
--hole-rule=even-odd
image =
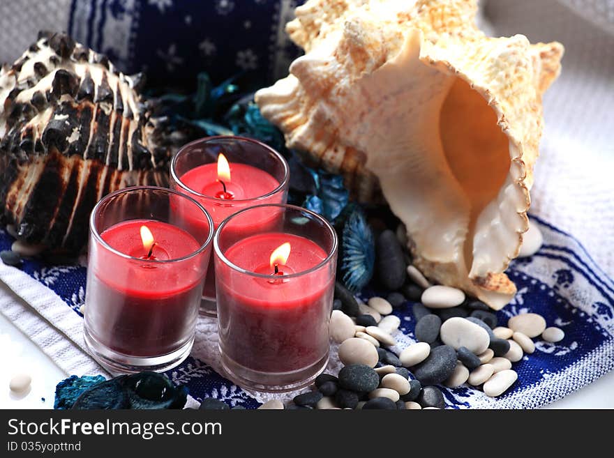
{"label": "leftmost clear glass votive holder with lit red candle", "polygon": [[[194,215],[204,224],[190,224]],[[125,188],[96,204],[84,338],[100,364],[112,373],[161,372],[188,356],[213,234],[207,211],[173,190]]]}

